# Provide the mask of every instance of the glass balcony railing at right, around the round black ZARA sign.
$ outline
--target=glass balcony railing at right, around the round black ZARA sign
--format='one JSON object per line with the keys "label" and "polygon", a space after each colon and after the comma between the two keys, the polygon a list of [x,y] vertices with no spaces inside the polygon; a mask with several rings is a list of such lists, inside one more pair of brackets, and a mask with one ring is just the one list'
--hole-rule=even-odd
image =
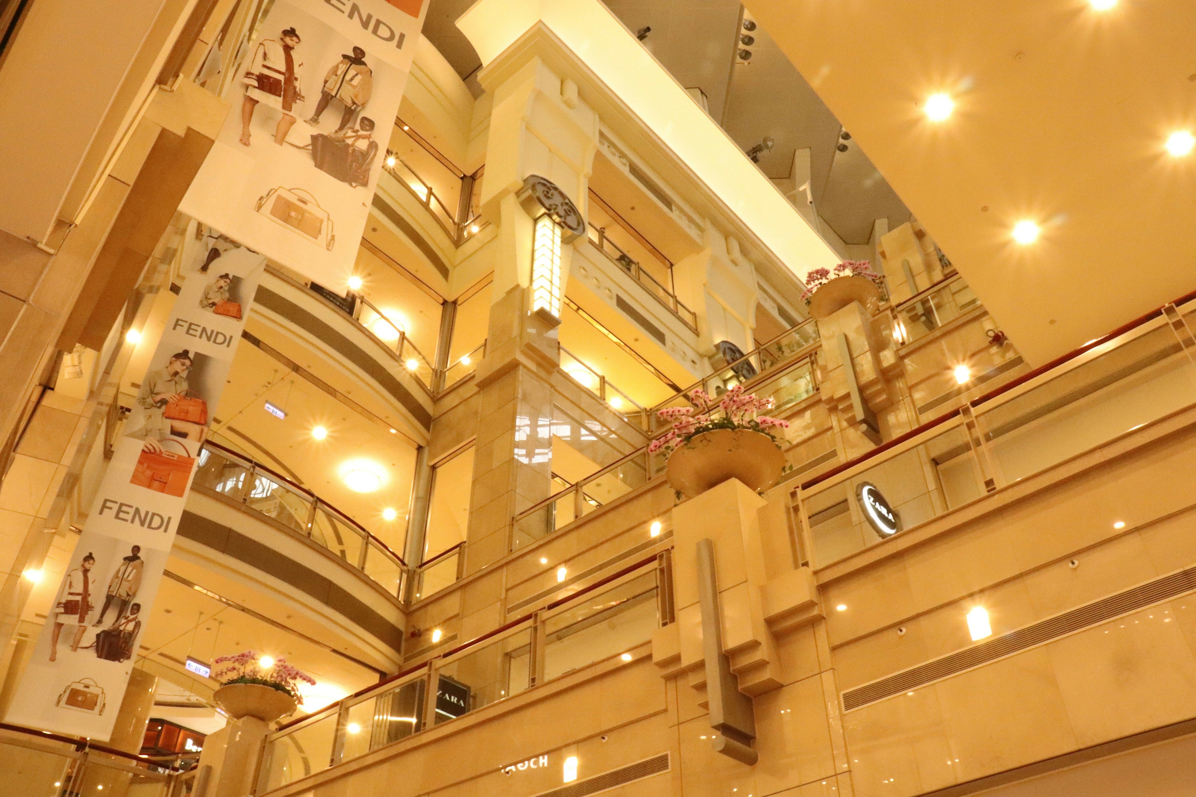
{"label": "glass balcony railing at right, around the round black ZARA sign", "polygon": [[[914,296],[898,312],[923,301]],[[891,539],[849,511],[864,482],[908,532],[1196,406],[1194,327],[1196,293],[805,482],[799,505],[814,565]]]}

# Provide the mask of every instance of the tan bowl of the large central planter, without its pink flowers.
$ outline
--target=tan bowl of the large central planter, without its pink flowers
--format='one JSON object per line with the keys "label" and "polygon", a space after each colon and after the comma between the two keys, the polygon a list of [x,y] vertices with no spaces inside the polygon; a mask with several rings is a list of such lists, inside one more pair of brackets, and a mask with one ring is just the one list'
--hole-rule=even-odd
{"label": "tan bowl of the large central planter, without its pink flowers", "polygon": [[673,490],[692,498],[727,479],[755,491],[781,478],[785,453],[765,434],[751,429],[713,429],[694,435],[669,458],[665,474]]}

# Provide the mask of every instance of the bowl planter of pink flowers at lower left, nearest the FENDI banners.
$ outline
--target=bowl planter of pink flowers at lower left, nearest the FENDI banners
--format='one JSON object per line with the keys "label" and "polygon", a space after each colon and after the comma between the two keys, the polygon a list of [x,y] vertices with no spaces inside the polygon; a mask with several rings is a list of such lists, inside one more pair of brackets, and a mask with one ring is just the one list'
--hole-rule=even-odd
{"label": "bowl planter of pink flowers at lower left, nearest the FENDI banners", "polygon": [[274,722],[292,715],[298,707],[299,681],[316,682],[285,658],[258,656],[252,650],[221,656],[215,663],[227,667],[215,673],[218,680],[225,680],[212,697],[233,719],[257,717],[263,722]]}

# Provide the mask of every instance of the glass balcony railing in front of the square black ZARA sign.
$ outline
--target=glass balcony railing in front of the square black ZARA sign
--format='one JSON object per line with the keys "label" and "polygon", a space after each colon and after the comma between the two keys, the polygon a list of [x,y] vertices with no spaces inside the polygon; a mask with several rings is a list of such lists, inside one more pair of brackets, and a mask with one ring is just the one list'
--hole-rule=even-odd
{"label": "glass balcony railing in front of the square black ZARA sign", "polygon": [[[282,725],[267,737],[256,793],[521,694],[578,667],[631,658],[630,650],[673,621],[671,605],[663,599],[667,570],[665,553],[640,559],[538,612]],[[620,633],[590,631],[584,646],[578,637],[570,639],[582,629],[605,627],[604,619],[616,620]]]}

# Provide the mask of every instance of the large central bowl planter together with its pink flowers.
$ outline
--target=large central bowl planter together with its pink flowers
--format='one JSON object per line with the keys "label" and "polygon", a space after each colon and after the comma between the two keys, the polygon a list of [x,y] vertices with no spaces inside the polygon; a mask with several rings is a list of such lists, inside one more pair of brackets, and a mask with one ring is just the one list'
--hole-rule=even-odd
{"label": "large central bowl planter together with its pink flowers", "polygon": [[[708,406],[713,398],[702,390],[690,393],[690,400]],[[666,476],[673,490],[694,497],[710,488],[739,479],[752,490],[765,490],[785,470],[785,453],[773,434],[788,429],[788,421],[759,415],[773,406],[773,399],[744,396],[737,385],[719,400],[721,416],[695,415],[694,407],[669,407],[657,415],[672,421],[672,428],[652,441],[648,453],[663,452],[669,458]]]}

